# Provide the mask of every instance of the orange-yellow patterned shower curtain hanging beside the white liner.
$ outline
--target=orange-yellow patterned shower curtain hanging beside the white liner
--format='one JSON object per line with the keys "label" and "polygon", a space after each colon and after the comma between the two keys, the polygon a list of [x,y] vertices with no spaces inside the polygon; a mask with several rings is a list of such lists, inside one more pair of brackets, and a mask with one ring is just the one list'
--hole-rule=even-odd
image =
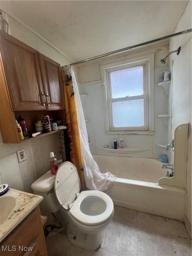
{"label": "orange-yellow patterned shower curtain hanging beside the white liner", "polygon": [[81,144],[79,138],[79,127],[77,122],[77,110],[74,94],[74,86],[69,65],[61,67],[62,81],[64,87],[65,114],[67,123],[67,135],[69,138],[69,151],[71,163],[77,168],[79,174],[81,189],[85,189],[85,180],[83,174],[83,161],[81,156]]}

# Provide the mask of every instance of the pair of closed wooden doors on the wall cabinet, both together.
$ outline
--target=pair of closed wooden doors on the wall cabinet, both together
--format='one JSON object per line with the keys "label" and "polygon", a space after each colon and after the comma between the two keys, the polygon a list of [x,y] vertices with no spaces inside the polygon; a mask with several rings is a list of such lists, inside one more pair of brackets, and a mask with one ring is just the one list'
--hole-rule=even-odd
{"label": "pair of closed wooden doors on the wall cabinet, both together", "polygon": [[13,111],[65,109],[59,63],[1,30],[0,45]]}

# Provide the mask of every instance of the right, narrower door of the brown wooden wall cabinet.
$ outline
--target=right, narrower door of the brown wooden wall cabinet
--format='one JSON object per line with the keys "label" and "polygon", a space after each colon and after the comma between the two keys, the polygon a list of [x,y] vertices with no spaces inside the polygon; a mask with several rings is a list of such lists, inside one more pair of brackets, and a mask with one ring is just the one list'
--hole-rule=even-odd
{"label": "right, narrower door of the brown wooden wall cabinet", "polygon": [[64,94],[60,64],[41,53],[38,54],[47,109],[64,109]]}

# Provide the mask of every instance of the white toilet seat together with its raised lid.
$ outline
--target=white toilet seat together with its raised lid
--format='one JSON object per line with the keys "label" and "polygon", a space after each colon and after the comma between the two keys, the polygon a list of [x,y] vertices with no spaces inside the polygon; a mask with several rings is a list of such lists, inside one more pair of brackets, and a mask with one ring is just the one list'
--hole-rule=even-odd
{"label": "white toilet seat together with its raised lid", "polygon": [[57,170],[54,191],[61,207],[83,225],[96,226],[113,215],[113,201],[107,194],[97,190],[79,194],[79,175],[70,162],[63,163]]}

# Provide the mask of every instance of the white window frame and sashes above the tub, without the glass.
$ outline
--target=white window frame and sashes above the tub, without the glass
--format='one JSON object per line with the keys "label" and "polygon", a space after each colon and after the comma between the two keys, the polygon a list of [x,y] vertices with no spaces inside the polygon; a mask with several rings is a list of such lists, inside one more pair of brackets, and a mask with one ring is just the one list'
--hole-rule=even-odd
{"label": "white window frame and sashes above the tub, without the glass", "polygon": [[[110,73],[131,67],[143,66],[143,94],[112,98]],[[154,54],[101,66],[101,77],[105,88],[105,131],[106,134],[154,134]],[[144,99],[144,126],[114,127],[112,116],[112,102]]]}

